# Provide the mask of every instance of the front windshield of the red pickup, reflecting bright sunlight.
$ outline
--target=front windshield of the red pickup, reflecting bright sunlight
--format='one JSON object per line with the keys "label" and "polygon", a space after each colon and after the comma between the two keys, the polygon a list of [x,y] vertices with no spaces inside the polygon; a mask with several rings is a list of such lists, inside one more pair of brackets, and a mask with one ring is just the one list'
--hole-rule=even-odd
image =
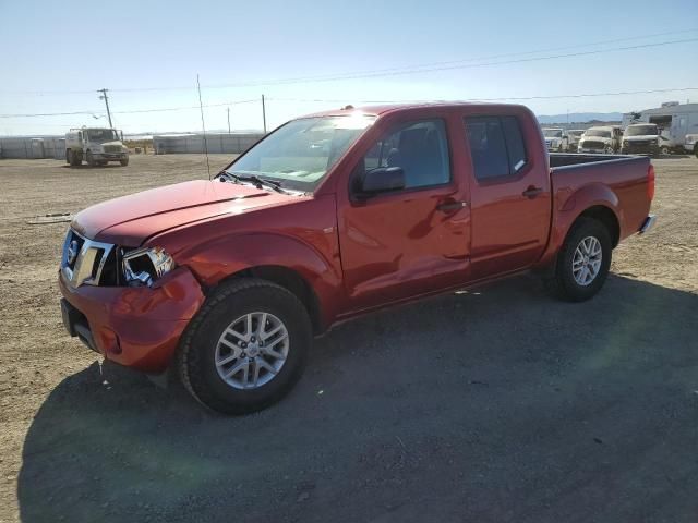
{"label": "front windshield of the red pickup, reflecting bright sunlight", "polygon": [[236,160],[227,172],[258,175],[282,187],[312,191],[375,117],[317,117],[293,120]]}

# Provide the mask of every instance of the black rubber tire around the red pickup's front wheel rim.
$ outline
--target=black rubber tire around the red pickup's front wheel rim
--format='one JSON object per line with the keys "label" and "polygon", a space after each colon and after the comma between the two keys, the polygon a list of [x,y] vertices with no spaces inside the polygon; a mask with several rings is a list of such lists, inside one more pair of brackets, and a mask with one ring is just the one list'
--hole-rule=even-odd
{"label": "black rubber tire around the red pickup's front wheel rim", "polygon": [[[279,318],[288,331],[288,355],[265,385],[236,389],[216,369],[216,346],[236,319],[254,312]],[[242,278],[224,283],[201,308],[180,341],[176,365],[189,392],[205,406],[224,414],[248,414],[284,398],[301,377],[313,341],[310,317],[291,292],[266,280]]]}

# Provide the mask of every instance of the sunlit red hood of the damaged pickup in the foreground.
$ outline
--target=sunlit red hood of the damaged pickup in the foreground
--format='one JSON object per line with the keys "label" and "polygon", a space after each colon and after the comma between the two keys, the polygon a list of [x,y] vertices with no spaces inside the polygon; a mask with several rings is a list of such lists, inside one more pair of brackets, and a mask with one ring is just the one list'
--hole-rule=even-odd
{"label": "sunlit red hood of the damaged pickup in the foreground", "polygon": [[188,223],[304,199],[230,182],[195,180],[110,199],[79,212],[71,228],[99,242],[135,247]]}

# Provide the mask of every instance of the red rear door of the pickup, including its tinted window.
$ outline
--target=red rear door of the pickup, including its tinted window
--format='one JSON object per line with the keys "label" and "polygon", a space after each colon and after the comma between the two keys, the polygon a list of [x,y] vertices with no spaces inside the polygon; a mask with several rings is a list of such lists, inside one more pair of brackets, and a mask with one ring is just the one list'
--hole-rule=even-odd
{"label": "red rear door of the pickup, including its tinted window", "polygon": [[473,279],[534,264],[547,244],[547,154],[527,112],[466,115],[471,157]]}

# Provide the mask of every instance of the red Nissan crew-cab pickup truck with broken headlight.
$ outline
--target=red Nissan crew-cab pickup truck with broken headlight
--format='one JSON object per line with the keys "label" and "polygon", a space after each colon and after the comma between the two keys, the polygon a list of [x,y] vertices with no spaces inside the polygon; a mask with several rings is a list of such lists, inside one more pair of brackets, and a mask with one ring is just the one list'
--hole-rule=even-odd
{"label": "red Nissan crew-cab pickup truck with broken headlight", "polygon": [[281,125],[213,181],[80,212],[63,321],[110,361],[251,412],[338,321],[531,269],[593,296],[612,250],[652,226],[653,193],[648,158],[549,155],[521,106],[347,107]]}

